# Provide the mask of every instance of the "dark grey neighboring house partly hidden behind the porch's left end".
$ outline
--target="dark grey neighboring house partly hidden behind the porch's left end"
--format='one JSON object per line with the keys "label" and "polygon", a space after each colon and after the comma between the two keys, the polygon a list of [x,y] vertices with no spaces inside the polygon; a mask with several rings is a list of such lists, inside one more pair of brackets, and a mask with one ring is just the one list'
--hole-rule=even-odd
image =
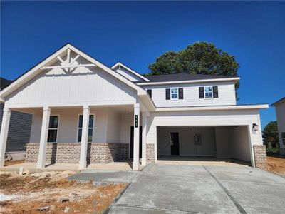
{"label": "dark grey neighboring house partly hidden behind the porch's left end", "polygon": [[[13,81],[0,77],[0,91],[9,86]],[[4,102],[0,101],[0,128],[2,123]],[[26,143],[30,141],[31,114],[12,111],[9,133],[7,138],[6,154],[9,159],[24,159]]]}

